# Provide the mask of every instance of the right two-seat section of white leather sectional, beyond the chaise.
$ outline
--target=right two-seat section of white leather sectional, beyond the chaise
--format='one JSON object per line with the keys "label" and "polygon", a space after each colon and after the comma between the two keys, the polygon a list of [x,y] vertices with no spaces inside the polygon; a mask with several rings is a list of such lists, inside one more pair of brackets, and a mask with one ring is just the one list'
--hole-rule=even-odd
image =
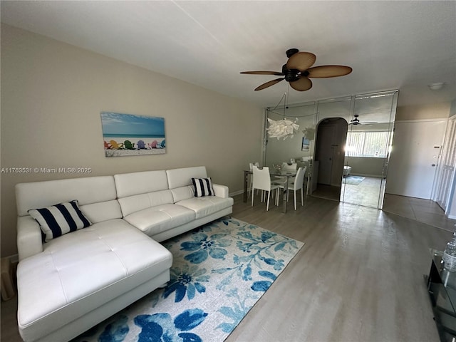
{"label": "right two-seat section of white leather sectional, beyond the chaise", "polygon": [[205,177],[205,167],[115,175],[123,219],[160,242],[231,214],[223,185],[213,185],[215,196],[195,197],[191,179]]}

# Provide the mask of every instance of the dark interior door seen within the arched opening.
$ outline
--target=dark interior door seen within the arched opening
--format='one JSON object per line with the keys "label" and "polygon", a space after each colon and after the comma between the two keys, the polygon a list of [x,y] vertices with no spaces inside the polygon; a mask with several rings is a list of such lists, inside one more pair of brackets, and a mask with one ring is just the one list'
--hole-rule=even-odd
{"label": "dark interior door seen within the arched opening", "polygon": [[316,160],[318,166],[318,183],[331,185],[331,173],[333,168],[333,137],[336,126],[319,125],[317,135]]}

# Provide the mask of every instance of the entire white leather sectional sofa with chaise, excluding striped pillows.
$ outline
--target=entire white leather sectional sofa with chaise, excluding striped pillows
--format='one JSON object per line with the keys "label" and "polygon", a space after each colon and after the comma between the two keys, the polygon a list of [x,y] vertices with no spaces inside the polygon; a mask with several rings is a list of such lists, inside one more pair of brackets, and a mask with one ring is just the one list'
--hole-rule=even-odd
{"label": "entire white leather sectional sofa with chaise, excluding striped pillows", "polygon": [[[24,341],[69,341],[170,279],[159,243],[232,213],[228,188],[195,197],[205,167],[16,185],[18,325]],[[43,242],[30,209],[77,199],[90,226]]]}

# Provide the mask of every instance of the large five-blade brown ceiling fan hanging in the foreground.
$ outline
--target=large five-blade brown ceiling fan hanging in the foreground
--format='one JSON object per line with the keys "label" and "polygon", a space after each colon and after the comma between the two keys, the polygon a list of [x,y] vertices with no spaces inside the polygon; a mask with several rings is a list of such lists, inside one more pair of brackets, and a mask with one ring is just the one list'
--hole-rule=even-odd
{"label": "large five-blade brown ceiling fan hanging in the foreground", "polygon": [[282,71],[242,71],[249,75],[275,75],[285,76],[261,84],[255,90],[262,90],[280,81],[287,81],[291,88],[298,91],[306,91],[312,88],[312,81],[309,78],[328,78],[345,76],[353,70],[349,66],[311,66],[314,65],[316,56],[310,52],[299,52],[297,48],[290,48],[286,51],[288,61],[282,66]]}

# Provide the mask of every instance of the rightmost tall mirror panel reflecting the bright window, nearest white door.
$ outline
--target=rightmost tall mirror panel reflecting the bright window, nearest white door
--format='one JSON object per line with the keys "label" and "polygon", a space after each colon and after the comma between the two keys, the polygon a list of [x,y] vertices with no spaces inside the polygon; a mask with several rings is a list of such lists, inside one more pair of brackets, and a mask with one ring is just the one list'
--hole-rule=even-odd
{"label": "rightmost tall mirror panel reflecting the bright window, nearest white door", "polygon": [[358,95],[348,125],[341,202],[381,209],[397,91]]}

